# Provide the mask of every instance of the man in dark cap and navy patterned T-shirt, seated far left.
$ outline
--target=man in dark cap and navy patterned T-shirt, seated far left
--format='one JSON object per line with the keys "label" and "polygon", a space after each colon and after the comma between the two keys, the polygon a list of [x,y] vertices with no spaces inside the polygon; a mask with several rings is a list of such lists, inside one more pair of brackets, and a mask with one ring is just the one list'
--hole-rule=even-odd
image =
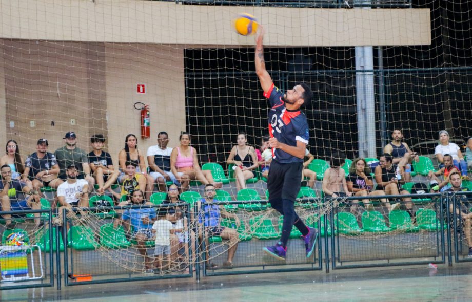
{"label": "man in dark cap and navy patterned T-shirt, seated far left", "polygon": [[40,192],[42,187],[57,187],[63,183],[58,178],[59,165],[54,154],[48,152],[48,140],[41,138],[37,141],[36,152],[26,158],[25,171],[22,180],[28,179],[33,183],[33,189]]}

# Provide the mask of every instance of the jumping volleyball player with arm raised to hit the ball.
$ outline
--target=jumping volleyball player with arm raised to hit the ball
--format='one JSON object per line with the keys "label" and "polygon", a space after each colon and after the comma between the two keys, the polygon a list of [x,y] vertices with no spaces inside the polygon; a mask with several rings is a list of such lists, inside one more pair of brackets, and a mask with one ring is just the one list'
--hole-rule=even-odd
{"label": "jumping volleyball player with arm raised to hit the ball", "polygon": [[313,92],[306,83],[296,85],[285,94],[274,86],[265,68],[263,35],[264,29],[260,26],[255,38],[255,72],[271,106],[268,117],[272,163],[267,177],[267,189],[272,208],[284,215],[279,242],[265,247],[264,251],[272,257],[285,260],[288,238],[295,225],[302,233],[308,258],[313,253],[318,230],[308,228],[303,223],[295,212],[294,204],[301,186],[303,158],[309,139],[308,123],[300,107],[311,101]]}

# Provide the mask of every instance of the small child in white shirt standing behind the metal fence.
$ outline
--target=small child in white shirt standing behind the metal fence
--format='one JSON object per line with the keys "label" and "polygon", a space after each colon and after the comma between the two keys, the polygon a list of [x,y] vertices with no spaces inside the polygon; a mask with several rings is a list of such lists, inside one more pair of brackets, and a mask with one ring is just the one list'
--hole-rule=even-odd
{"label": "small child in white shirt standing behind the metal fence", "polygon": [[[175,230],[172,223],[160,216],[152,225],[152,232],[155,233],[154,248],[154,268],[160,268],[161,271],[167,271],[170,268],[170,234]],[[162,265],[162,261],[166,261],[166,266]]]}

